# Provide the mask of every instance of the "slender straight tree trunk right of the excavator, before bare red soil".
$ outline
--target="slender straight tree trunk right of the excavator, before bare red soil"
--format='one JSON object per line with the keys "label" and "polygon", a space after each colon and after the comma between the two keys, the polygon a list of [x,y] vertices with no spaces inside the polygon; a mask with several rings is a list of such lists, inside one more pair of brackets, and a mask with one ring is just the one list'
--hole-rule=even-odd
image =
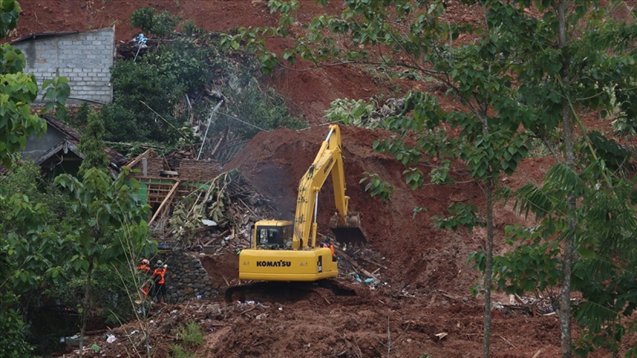
{"label": "slender straight tree trunk right of the excavator, before bare red soil", "polygon": [[487,265],[484,270],[484,340],[482,342],[482,357],[489,358],[491,341],[491,282],[493,280],[493,182],[492,176],[487,178]]}

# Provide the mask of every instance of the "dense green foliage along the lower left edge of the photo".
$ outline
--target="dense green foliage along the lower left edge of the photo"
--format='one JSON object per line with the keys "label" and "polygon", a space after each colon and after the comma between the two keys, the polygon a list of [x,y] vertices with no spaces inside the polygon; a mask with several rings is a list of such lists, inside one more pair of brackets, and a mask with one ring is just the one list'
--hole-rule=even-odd
{"label": "dense green foliage along the lower left edge of the photo", "polygon": [[43,182],[39,171],[32,161],[24,162],[0,187],[0,355],[6,357],[31,357],[21,312],[35,311],[41,283],[60,283],[63,272],[64,240],[44,227],[61,229],[68,197]]}

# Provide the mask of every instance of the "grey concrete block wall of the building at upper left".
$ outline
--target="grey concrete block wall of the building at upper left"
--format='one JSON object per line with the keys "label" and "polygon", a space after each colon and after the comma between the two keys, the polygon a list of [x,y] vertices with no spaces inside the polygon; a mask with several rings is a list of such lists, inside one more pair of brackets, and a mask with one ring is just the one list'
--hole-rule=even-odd
{"label": "grey concrete block wall of the building at upper left", "polygon": [[[64,76],[71,86],[70,97],[113,101],[110,68],[115,56],[114,27],[39,39],[36,35],[34,39],[16,41],[13,46],[24,53],[25,73],[34,73],[38,85]],[[78,102],[81,101],[69,99],[69,103]]]}

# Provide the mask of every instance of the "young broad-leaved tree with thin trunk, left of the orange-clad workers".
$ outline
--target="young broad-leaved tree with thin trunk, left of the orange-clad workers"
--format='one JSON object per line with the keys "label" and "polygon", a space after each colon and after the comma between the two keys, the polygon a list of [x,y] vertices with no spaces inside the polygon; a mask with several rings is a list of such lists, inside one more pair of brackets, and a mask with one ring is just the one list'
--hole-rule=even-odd
{"label": "young broad-leaved tree with thin trunk, left of the orange-clad workers", "polygon": [[69,175],[55,178],[55,183],[73,196],[73,212],[81,226],[67,234],[73,253],[69,264],[76,273],[85,276],[82,299],[80,355],[90,309],[90,287],[93,273],[100,265],[127,262],[131,252],[148,255],[154,247],[146,226],[148,206],[137,203],[138,185],[126,180],[123,171],[113,180],[103,171],[90,168],[82,181]]}

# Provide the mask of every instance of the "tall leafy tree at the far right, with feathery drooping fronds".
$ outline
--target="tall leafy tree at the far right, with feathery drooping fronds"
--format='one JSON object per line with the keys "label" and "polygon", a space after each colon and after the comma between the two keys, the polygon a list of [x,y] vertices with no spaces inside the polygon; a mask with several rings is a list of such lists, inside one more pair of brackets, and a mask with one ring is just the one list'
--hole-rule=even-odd
{"label": "tall leafy tree at the far right, with feathery drooping fronds", "polygon": [[[520,2],[531,3],[544,15],[535,25],[540,41],[526,52],[525,71],[518,73],[520,98],[540,110],[544,120],[532,130],[545,140],[558,164],[548,171],[541,187],[524,187],[517,197],[521,210],[542,220],[536,231],[562,243],[559,257],[550,250],[550,259],[557,259],[557,270],[540,270],[537,283],[545,285],[555,275],[561,276],[562,357],[572,355],[573,290],[586,299],[575,315],[585,327],[576,352],[585,355],[594,347],[605,346],[616,355],[618,343],[631,325],[631,320],[628,326],[620,322],[634,307],[626,296],[634,289],[628,283],[632,279],[626,280],[626,275],[634,276],[635,253],[628,234],[635,225],[634,208],[629,204],[634,183],[626,179],[630,155],[615,141],[587,132],[581,116],[598,110],[605,115],[615,111],[616,103],[624,109],[629,108],[625,101],[634,101],[637,72],[632,43],[637,27],[613,20],[614,7],[624,6],[622,3],[599,7],[597,1]],[[626,113],[634,116],[634,111]],[[507,260],[528,261],[545,255],[529,252],[524,245],[515,254],[519,257]],[[518,282],[508,269],[504,273],[503,277]]]}

